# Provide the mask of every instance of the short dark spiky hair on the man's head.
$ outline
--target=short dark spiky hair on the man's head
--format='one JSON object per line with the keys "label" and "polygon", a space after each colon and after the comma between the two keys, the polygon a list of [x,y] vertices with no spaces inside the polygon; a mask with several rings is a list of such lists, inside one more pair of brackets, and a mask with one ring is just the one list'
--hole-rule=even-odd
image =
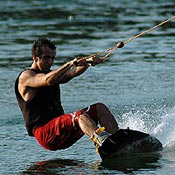
{"label": "short dark spiky hair on the man's head", "polygon": [[33,43],[32,57],[39,57],[42,54],[43,47],[48,47],[52,50],[56,50],[56,46],[53,42],[46,38],[39,38]]}

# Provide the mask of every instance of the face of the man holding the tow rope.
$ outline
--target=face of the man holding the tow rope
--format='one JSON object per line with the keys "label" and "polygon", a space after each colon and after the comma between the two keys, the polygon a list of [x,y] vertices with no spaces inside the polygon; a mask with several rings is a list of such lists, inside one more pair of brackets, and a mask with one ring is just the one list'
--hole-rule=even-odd
{"label": "face of the man holding the tow rope", "polygon": [[42,50],[42,54],[39,56],[39,59],[37,61],[38,68],[43,72],[49,72],[52,64],[54,63],[55,56],[55,50],[44,47]]}

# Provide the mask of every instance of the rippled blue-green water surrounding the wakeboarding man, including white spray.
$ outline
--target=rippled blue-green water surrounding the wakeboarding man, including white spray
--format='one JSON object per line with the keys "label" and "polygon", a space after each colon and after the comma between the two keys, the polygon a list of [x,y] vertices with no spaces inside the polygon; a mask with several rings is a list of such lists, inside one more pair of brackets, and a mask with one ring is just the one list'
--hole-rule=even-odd
{"label": "rippled blue-green water surrounding the wakeboarding man, including white spray", "polygon": [[175,21],[117,49],[62,85],[66,112],[101,101],[122,128],[156,136],[164,150],[101,164],[88,137],[67,150],[46,151],[27,136],[14,80],[31,63],[32,43],[57,45],[54,68],[113,47],[174,16],[172,0],[0,1],[0,174],[169,174],[175,172]]}

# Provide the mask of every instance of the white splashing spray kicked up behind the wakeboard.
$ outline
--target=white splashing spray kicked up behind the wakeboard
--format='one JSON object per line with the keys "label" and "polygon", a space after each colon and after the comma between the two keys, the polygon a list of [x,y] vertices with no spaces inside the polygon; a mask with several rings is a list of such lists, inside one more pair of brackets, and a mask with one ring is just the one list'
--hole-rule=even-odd
{"label": "white splashing spray kicked up behind the wakeboard", "polygon": [[123,114],[119,125],[124,129],[129,127],[146,132],[160,140],[165,150],[175,150],[175,107],[164,115],[150,116],[147,110],[144,113],[137,110]]}

